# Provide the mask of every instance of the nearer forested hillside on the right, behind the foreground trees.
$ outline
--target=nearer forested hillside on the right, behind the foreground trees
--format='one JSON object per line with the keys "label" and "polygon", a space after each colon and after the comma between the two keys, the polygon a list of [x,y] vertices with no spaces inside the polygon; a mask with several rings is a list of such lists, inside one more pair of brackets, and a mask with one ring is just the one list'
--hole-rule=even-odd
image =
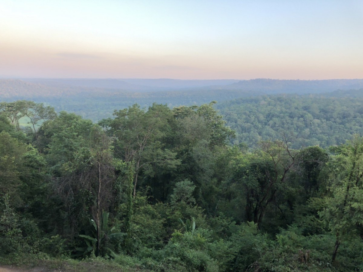
{"label": "nearer forested hillside on the right, behind the foreground trees", "polygon": [[[344,96],[337,97],[339,94]],[[294,132],[299,138],[294,148],[327,148],[345,143],[354,133],[363,134],[362,94],[265,95],[223,102],[216,108],[236,131],[234,144],[255,148],[261,140],[279,139],[281,133]]]}

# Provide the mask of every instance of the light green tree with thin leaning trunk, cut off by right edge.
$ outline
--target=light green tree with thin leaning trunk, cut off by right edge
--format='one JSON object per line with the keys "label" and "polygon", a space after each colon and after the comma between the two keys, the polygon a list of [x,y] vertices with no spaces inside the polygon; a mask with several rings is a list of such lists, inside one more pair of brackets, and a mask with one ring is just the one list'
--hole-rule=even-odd
{"label": "light green tree with thin leaning trunk, cut off by right edge", "polygon": [[332,148],[325,209],[319,215],[335,234],[334,261],[342,237],[358,234],[363,240],[363,138]]}

